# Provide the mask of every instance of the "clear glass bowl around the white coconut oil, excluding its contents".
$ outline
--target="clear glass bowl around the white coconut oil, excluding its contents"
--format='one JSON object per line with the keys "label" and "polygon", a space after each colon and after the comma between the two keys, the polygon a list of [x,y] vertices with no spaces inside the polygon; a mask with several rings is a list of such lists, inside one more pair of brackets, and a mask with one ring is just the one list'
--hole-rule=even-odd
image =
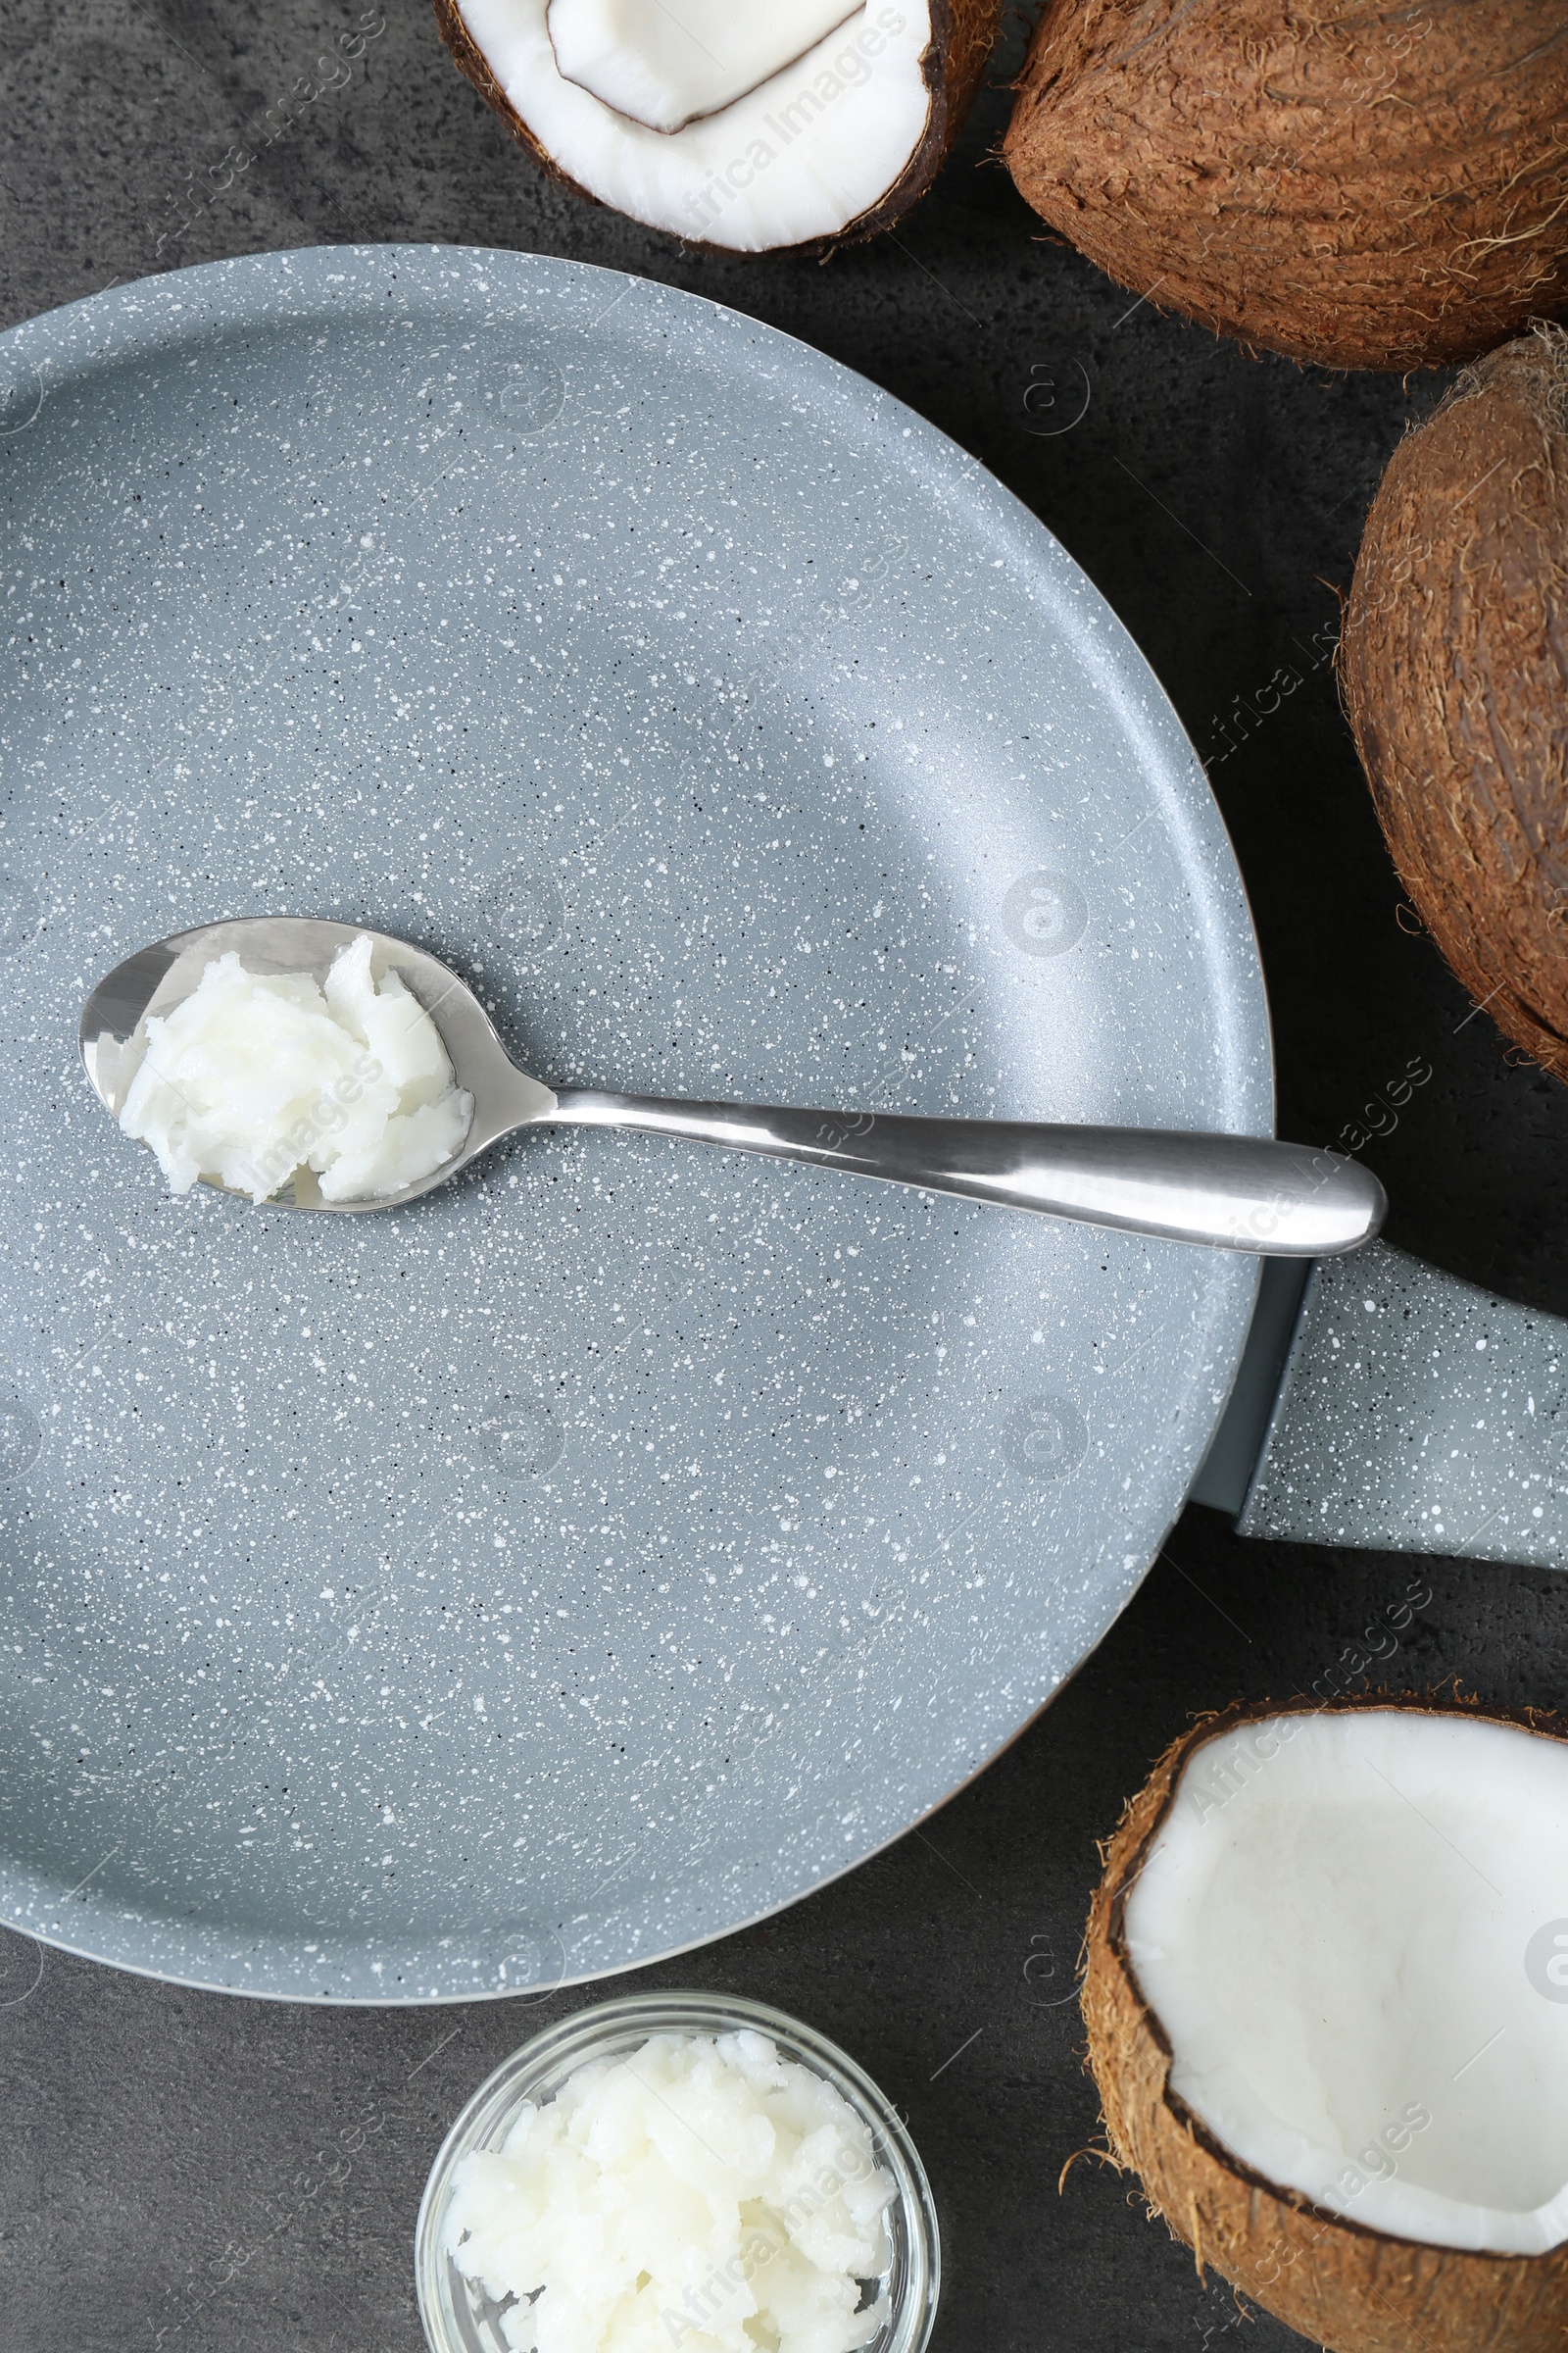
{"label": "clear glass bowl around the white coconut oil, excluding its contents", "polygon": [[501,2306],[477,2280],[465,2280],[444,2252],[458,2158],[470,2148],[498,2148],[524,2099],[552,2099],[567,2075],[590,2059],[625,2059],[649,2035],[719,2035],[745,2026],[769,2035],[783,2059],[797,2059],[830,2082],[867,2127],[877,2165],[893,2179],[884,2217],[893,2259],[877,2280],[889,2294],[889,2318],[863,2353],[924,2353],[936,2320],[943,2252],[931,2184],[903,2118],[870,2075],[825,2035],[802,2026],[799,2019],[788,2019],[780,2009],[769,2009],[766,2002],[729,1993],[632,1993],[618,2002],[595,2002],[592,2009],[578,2009],[557,2026],[545,2026],[480,2085],[442,2141],[418,2205],[414,2271],[418,2318],[430,2353],[508,2353]]}

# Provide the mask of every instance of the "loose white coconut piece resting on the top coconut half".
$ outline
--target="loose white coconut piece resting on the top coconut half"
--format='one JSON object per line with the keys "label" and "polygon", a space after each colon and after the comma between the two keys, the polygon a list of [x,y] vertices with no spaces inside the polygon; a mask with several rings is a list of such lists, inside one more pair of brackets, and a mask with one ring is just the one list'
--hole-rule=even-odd
{"label": "loose white coconut piece resting on the top coconut half", "polygon": [[616,113],[679,132],[771,82],[858,14],[856,0],[550,0],[555,64]]}

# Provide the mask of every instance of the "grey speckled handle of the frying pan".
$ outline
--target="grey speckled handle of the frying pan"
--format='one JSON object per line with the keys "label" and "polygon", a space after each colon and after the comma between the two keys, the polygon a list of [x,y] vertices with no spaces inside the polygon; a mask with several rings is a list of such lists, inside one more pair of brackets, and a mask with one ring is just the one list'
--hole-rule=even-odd
{"label": "grey speckled handle of the frying pan", "polygon": [[1192,1494],[1241,1537],[1568,1569],[1566,1433],[1568,1320],[1368,1242],[1265,1268]]}

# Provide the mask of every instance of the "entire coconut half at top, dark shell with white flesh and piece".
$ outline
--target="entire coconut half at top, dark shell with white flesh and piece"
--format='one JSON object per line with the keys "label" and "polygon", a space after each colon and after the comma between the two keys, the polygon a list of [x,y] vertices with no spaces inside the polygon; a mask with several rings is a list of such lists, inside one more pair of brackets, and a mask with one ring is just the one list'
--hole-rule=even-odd
{"label": "entire coconut half at top, dark shell with white flesh and piece", "polygon": [[867,238],[924,195],[1001,0],[435,0],[435,19],[557,179],[759,254]]}

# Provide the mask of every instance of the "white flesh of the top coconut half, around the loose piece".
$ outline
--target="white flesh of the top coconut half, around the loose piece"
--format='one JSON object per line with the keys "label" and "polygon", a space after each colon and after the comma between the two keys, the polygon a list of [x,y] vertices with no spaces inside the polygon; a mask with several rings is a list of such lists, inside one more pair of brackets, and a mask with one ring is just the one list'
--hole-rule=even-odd
{"label": "white flesh of the top coconut half, around the loose piece", "polygon": [[[562,5],[555,0],[555,12]],[[562,172],[616,212],[693,242],[750,254],[832,238],[898,186],[926,134],[931,0],[867,0],[764,82],[675,132],[649,129],[562,71],[548,0],[458,7],[508,106]],[[632,0],[623,7],[630,14]],[[729,7],[750,26],[752,56],[764,49],[769,21],[806,24],[813,14],[785,0]],[[592,0],[592,12],[618,14],[609,0]],[[649,40],[637,49],[639,66],[616,68],[628,96],[654,49]],[[595,78],[611,87],[609,68],[595,68]],[[670,111],[679,113],[691,92],[696,82],[670,99]]]}

